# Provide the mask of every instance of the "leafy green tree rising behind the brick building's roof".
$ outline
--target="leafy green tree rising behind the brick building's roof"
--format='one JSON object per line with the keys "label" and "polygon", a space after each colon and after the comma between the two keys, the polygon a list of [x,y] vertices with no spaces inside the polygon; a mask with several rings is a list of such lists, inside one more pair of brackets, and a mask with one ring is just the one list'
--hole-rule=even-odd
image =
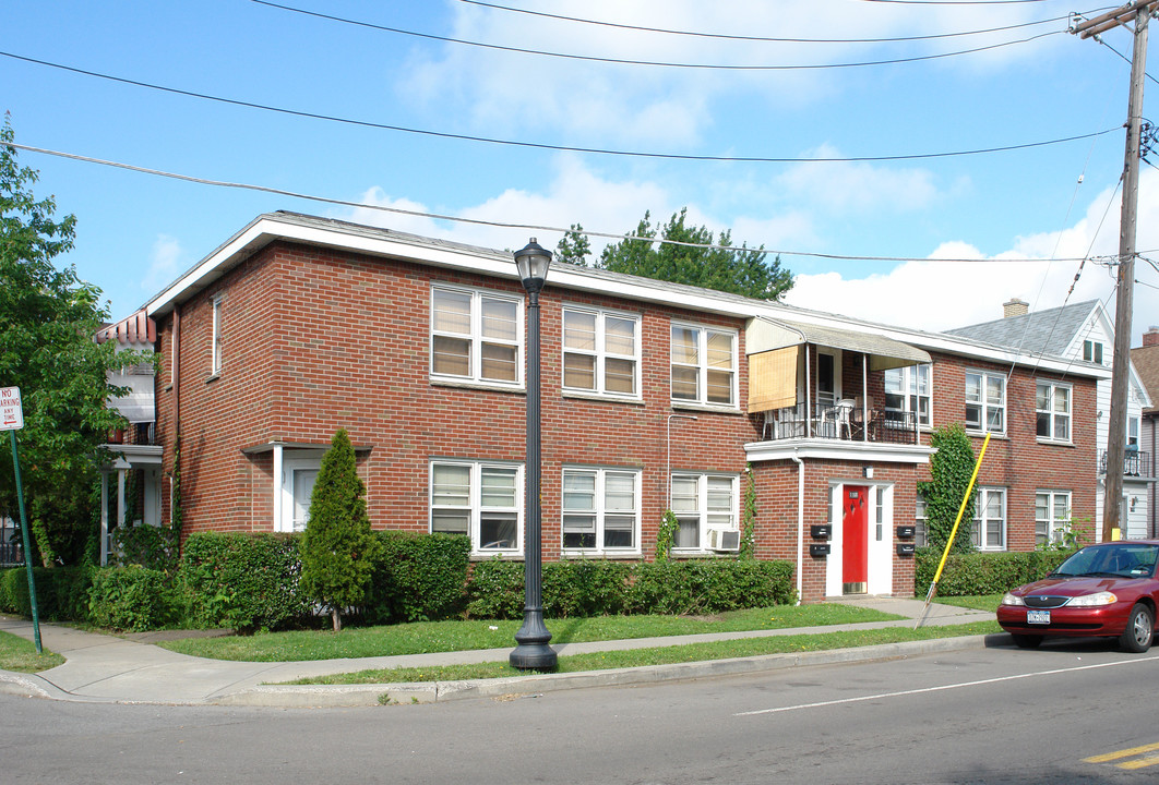
{"label": "leafy green tree rising behind the brick building's roof", "polygon": [[768,263],[764,245],[749,248],[745,243],[735,248],[730,232],[714,240],[707,227],[687,225],[687,210],[673,213],[658,229],[659,239],[669,241],[662,243],[654,242],[657,228],[651,225],[651,213],[644,213],[633,233],[641,240],[621,240],[606,247],[598,266],[759,300],[777,300],[793,287],[793,273],[781,269],[780,257]]}

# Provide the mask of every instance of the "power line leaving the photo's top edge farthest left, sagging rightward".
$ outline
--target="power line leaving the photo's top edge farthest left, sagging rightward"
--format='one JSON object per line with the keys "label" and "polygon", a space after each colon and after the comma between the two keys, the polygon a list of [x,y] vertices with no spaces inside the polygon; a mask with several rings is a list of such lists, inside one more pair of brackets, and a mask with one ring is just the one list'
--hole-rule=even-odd
{"label": "power line leaving the photo's top edge farthest left, sagging rightward", "polygon": [[465,38],[451,38],[449,36],[436,36],[429,32],[416,32],[414,30],[403,30],[402,28],[392,28],[384,24],[373,24],[371,22],[363,22],[359,20],[347,19],[344,16],[334,16],[333,14],[322,14],[315,10],[307,10],[305,8],[294,8],[293,6],[283,6],[277,2],[270,2],[269,0],[250,0],[250,2],[256,2],[261,6],[268,6],[270,8],[278,8],[280,10],[287,10],[294,14],[302,14],[305,16],[315,16],[318,19],[325,19],[333,22],[342,22],[343,24],[353,24],[357,27],[370,28],[372,30],[381,30],[384,32],[394,32],[402,36],[413,36],[415,38],[423,38],[427,41],[438,41],[449,44],[460,44],[464,46],[478,46],[480,49],[497,50],[501,52],[515,52],[518,54],[535,54],[538,57],[552,57],[562,58],[566,60],[583,60],[585,63],[607,63],[612,65],[636,65],[636,66],[657,66],[665,68],[695,68],[695,69],[707,69],[707,71],[819,71],[825,68],[861,68],[867,66],[881,66],[881,65],[898,65],[902,63],[921,63],[925,60],[938,60],[947,57],[957,57],[961,54],[975,54],[977,52],[987,52],[994,49],[1001,49],[1004,46],[1014,46],[1016,44],[1028,44],[1038,38],[1045,38],[1047,36],[1056,36],[1065,34],[1065,30],[1051,30],[1050,32],[1041,32],[1029,38],[1021,38],[1019,41],[1006,41],[998,44],[987,44],[986,46],[976,46],[974,49],[963,49],[954,52],[941,52],[938,54],[919,54],[914,57],[904,58],[892,58],[888,60],[866,60],[857,63],[815,63],[815,64],[797,64],[797,65],[726,65],[720,63],[668,63],[659,60],[628,60],[624,58],[613,57],[596,57],[592,54],[566,54],[562,52],[551,52],[540,49],[523,49],[519,46],[503,46],[500,44],[484,44],[478,41],[467,41]]}

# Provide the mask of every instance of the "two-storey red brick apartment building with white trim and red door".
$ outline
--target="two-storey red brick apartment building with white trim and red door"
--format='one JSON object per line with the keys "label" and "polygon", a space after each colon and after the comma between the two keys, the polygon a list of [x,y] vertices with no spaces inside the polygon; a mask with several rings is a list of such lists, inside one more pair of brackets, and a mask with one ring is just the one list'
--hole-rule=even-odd
{"label": "two-storey red brick apartment building with white trim and red door", "polygon": [[[751,483],[756,552],[804,601],[912,595],[928,435],[955,421],[998,436],[979,546],[1093,516],[1101,366],[568,264],[540,302],[546,559],[651,559],[665,509],[676,558],[735,552]],[[183,536],[304,528],[345,427],[376,528],[522,558],[524,311],[510,254],[258,217],[144,308]],[[1042,384],[1067,404],[1047,438]]]}

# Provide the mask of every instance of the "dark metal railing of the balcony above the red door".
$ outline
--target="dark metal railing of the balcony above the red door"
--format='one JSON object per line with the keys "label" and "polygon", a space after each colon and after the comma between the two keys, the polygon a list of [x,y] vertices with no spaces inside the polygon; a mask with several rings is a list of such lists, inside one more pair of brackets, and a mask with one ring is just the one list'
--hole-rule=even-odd
{"label": "dark metal railing of the balcony above the red door", "polygon": [[852,402],[836,405],[803,404],[765,412],[764,439],[834,439],[872,443],[916,445],[918,423],[913,412],[872,409],[865,412]]}

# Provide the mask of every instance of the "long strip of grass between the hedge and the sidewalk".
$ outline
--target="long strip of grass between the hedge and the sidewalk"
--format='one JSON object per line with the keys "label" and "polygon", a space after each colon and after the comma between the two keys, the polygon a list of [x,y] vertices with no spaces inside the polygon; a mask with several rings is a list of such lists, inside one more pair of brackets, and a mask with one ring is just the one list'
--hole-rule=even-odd
{"label": "long strip of grass between the hedge and the sidewalk", "polygon": [[[548,619],[552,641],[622,640],[673,634],[783,630],[903,618],[839,603],[775,606],[714,616],[597,616]],[[355,656],[462,652],[511,646],[522,621],[415,622],[389,626],[347,628],[338,634],[305,630],[255,636],[185,638],[159,641],[174,652],[217,660],[294,662]],[[617,666],[619,667],[619,666]]]}

